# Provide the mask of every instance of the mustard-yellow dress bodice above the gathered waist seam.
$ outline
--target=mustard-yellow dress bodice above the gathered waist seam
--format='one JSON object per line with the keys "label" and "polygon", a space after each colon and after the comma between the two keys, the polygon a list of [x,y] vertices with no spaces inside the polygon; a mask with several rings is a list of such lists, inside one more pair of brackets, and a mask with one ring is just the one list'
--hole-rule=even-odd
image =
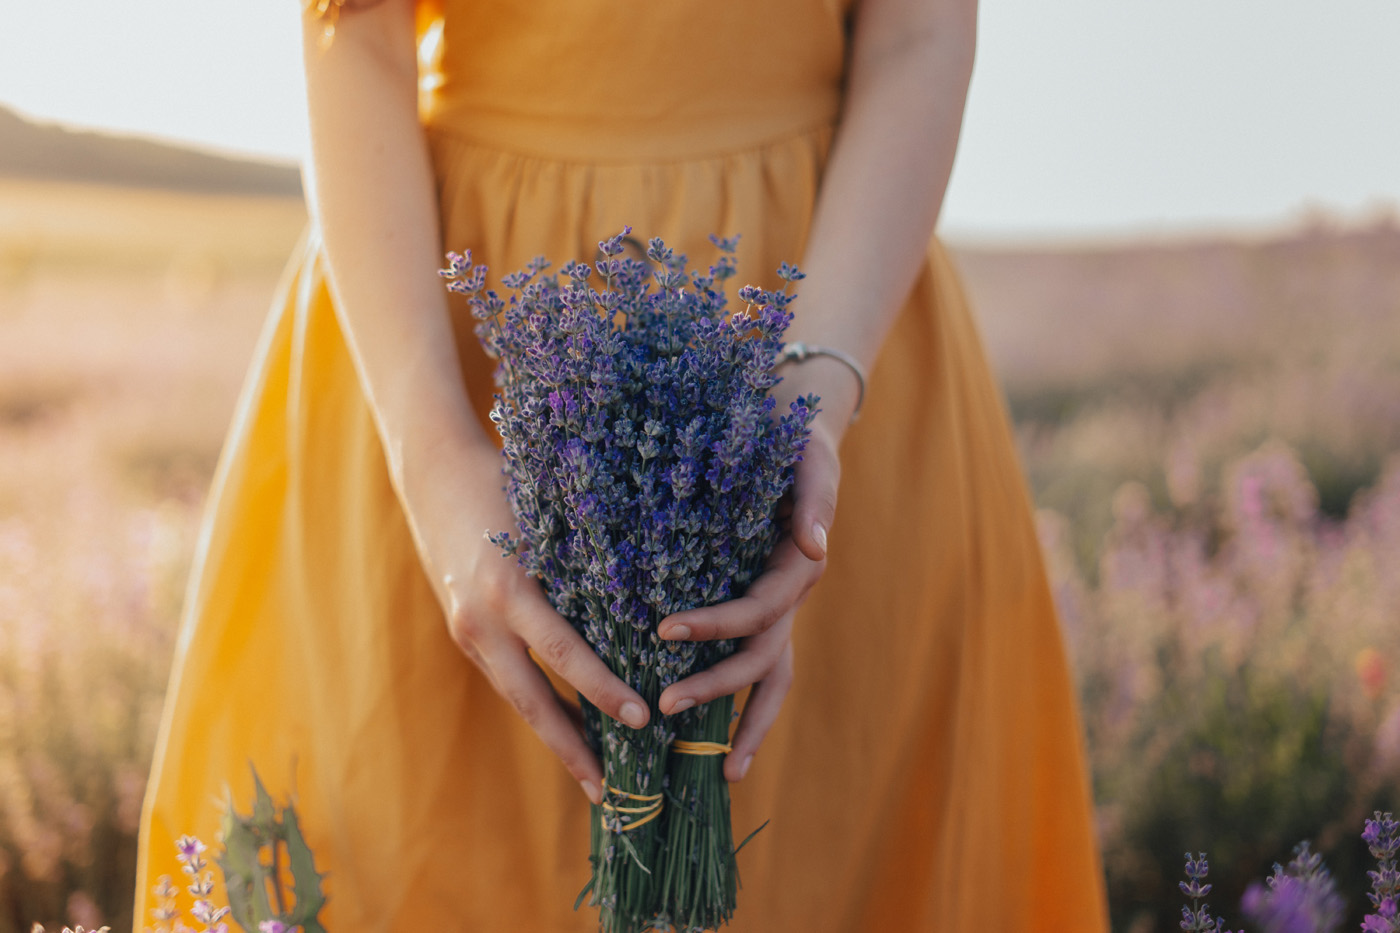
{"label": "mustard-yellow dress bodice above the gathered waist seam", "polygon": [[[843,0],[444,0],[424,119],[524,154],[721,154],[830,123]],[[762,7],[762,8],[759,8]]]}

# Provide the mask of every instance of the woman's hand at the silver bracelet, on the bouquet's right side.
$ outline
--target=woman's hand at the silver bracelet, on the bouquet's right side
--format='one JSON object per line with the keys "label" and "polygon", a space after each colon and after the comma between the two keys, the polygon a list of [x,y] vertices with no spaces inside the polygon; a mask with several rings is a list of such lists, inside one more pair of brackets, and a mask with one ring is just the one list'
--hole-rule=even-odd
{"label": "woman's hand at the silver bracelet, on the bouquet's right side", "polygon": [[735,600],[662,619],[661,637],[679,642],[739,639],[738,650],[714,667],[668,686],[661,712],[679,713],[753,685],[724,762],[728,780],[742,780],[792,686],[792,618],[826,569],[826,537],[836,518],[841,478],[837,454],[855,406],[857,384],[843,363],[809,357],[791,367],[774,389],[777,410],[798,395],[818,395],[820,413],[792,472],[790,530],[767,569]]}

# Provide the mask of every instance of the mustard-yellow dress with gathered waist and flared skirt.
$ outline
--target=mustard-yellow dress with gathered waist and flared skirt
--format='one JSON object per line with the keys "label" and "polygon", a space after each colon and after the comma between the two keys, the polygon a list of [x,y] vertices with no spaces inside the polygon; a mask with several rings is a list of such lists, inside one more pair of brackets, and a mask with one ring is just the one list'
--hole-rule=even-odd
{"label": "mustard-yellow dress with gathered waist and flared skirt", "polygon": [[[424,109],[445,248],[494,275],[631,224],[742,282],[799,261],[839,0],[447,0]],[[794,305],[801,314],[801,301]],[[468,388],[491,370],[454,305]],[[732,929],[1106,929],[1081,728],[997,385],[935,240],[843,450],[797,684],[746,780]],[[238,408],[147,793],[137,929],[249,763],[294,796],[332,933],[592,930],[578,786],[448,637],[315,237]]]}

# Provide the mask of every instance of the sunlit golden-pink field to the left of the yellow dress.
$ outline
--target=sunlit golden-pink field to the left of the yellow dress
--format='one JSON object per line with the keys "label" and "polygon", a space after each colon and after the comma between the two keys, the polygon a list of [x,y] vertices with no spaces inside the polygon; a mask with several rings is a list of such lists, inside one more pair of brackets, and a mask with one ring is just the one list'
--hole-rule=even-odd
{"label": "sunlit golden-pink field to the left of the yellow dress", "polygon": [[0,932],[130,929],[200,506],[302,223],[0,179]]}

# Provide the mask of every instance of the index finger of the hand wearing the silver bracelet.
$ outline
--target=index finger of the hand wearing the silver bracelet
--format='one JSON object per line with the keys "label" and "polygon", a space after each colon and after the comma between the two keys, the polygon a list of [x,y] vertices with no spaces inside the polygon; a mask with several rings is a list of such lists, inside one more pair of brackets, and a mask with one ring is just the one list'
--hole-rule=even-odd
{"label": "index finger of the hand wearing the silver bracelet", "polygon": [[673,642],[742,639],[767,632],[802,601],[825,566],[823,562],[809,560],[792,538],[784,538],[773,551],[769,569],[742,597],[676,612],[662,619],[657,630],[661,637]]}

